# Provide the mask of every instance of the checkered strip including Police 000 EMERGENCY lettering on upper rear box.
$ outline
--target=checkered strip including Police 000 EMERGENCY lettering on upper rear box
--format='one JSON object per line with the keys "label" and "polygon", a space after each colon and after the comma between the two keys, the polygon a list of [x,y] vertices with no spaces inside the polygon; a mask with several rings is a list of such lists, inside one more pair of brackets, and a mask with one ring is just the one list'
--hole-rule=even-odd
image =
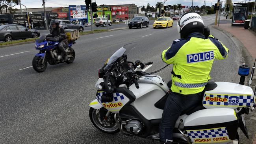
{"label": "checkered strip including Police 000 EMERGENCY lettering on upper rear box", "polygon": [[203,105],[246,107],[250,106],[252,102],[253,97],[251,95],[204,94]]}

